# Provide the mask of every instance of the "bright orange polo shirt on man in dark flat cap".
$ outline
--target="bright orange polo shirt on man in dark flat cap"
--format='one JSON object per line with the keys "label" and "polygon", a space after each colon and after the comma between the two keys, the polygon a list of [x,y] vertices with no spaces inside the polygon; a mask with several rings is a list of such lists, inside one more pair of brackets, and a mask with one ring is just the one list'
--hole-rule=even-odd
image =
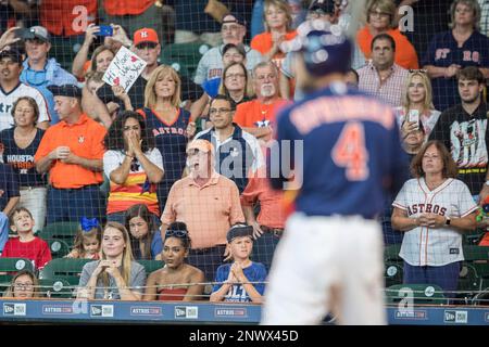
{"label": "bright orange polo shirt on man in dark flat cap", "polygon": [[[34,160],[37,163],[58,146],[68,146],[77,156],[88,159],[102,159],[105,149],[103,138],[106,130],[103,126],[82,114],[78,121],[68,125],[61,120],[48,128],[37,149]],[[103,182],[102,172],[95,172],[80,165],[53,160],[49,170],[49,181],[58,189],[82,188]]]}

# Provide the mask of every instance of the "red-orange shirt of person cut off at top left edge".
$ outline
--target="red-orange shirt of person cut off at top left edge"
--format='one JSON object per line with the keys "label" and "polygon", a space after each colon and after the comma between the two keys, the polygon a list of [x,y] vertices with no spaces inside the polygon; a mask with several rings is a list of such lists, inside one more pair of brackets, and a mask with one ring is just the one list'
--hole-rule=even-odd
{"label": "red-orange shirt of person cut off at top left edge", "polygon": [[97,0],[42,0],[39,12],[41,25],[49,33],[85,35],[86,25],[97,18]]}

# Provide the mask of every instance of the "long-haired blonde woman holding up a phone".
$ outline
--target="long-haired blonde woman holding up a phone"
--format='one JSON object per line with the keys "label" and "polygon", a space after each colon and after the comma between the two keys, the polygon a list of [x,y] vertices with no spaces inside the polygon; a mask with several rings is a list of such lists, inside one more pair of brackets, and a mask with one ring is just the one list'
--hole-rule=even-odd
{"label": "long-haired blonde woman holding up a phone", "polygon": [[402,93],[402,105],[394,112],[402,138],[417,130],[418,121],[423,124],[425,137],[429,137],[441,113],[432,105],[431,82],[425,72],[410,72]]}

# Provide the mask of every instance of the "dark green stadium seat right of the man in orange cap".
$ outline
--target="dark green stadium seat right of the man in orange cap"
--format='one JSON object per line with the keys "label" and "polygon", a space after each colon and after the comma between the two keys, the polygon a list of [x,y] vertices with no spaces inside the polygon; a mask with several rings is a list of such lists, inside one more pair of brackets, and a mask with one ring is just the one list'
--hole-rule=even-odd
{"label": "dark green stadium seat right of the man in orange cap", "polygon": [[209,50],[209,46],[203,43],[173,43],[165,46],[160,55],[163,64],[178,64],[180,75],[193,77],[202,55]]}

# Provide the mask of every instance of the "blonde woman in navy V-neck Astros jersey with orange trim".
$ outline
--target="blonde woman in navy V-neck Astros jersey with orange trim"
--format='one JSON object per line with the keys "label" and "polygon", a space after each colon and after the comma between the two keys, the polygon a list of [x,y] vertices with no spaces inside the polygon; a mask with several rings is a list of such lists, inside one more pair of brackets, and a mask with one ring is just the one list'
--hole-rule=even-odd
{"label": "blonde woman in navy V-neck Astros jersey with orange trim", "polygon": [[163,157],[165,175],[158,184],[160,210],[163,210],[173,183],[181,178],[186,164],[187,127],[190,113],[180,107],[181,80],[176,70],[161,65],[151,74],[145,89],[147,129],[154,137],[155,147]]}

